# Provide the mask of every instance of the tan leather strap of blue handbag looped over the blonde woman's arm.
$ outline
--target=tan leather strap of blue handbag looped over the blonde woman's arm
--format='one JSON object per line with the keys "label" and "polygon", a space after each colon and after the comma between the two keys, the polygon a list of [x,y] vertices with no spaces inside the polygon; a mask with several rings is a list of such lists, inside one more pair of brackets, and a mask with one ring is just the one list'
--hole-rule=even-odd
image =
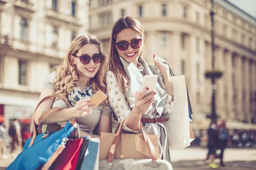
{"label": "tan leather strap of blue handbag looped over the blonde woman's arm", "polygon": [[[36,106],[34,115],[33,115],[33,136],[32,136],[32,139],[31,139],[30,144],[29,144],[28,147],[31,147],[31,146],[33,145],[33,143],[34,143],[34,141],[35,141],[35,139],[36,139],[36,136],[38,135],[37,127],[40,127],[40,126],[41,126],[41,122],[42,122],[47,116],[49,116],[50,114],[52,114],[52,112],[55,112],[55,111],[57,111],[57,110],[61,110],[61,109],[62,109],[62,108],[60,108],[60,107],[55,107],[55,108],[51,108],[51,109],[47,110],[43,115],[41,115],[41,116],[39,117],[39,119],[38,119],[38,122],[39,122],[39,123],[38,123],[38,125],[36,125],[36,122],[35,122],[35,113],[36,113],[36,110],[37,110],[37,108],[39,107],[39,105],[40,105],[44,100],[46,100],[46,99],[48,99],[48,98],[59,98],[59,99],[63,100],[63,101],[67,104],[68,108],[70,107],[69,104],[68,104],[68,102],[67,102],[65,99],[63,99],[62,97],[57,96],[57,95],[46,96],[46,97],[44,97],[44,99],[42,99],[41,101],[39,101],[39,103],[38,103],[37,106]],[[76,123],[76,121],[75,121],[75,119],[71,119],[71,120],[69,121],[69,123],[72,124],[72,125],[74,125],[74,124]]]}

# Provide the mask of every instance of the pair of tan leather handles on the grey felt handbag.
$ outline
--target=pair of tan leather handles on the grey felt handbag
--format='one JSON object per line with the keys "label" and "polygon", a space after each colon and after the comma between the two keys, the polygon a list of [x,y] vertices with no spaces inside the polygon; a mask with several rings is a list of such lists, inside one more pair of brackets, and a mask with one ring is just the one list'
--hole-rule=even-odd
{"label": "pair of tan leather handles on the grey felt handbag", "polygon": [[[110,147],[110,150],[109,150],[109,153],[108,153],[108,162],[113,162],[114,153],[115,153],[115,150],[116,150],[116,144],[117,144],[117,141],[120,138],[120,136],[122,134],[122,131],[123,131],[123,124],[124,124],[124,121],[120,123],[119,128],[117,129],[116,136],[113,140],[113,143],[112,143],[112,145]],[[150,141],[150,139],[149,139],[144,127],[143,127],[143,124],[141,122],[140,122],[140,130],[141,130],[142,136],[143,136],[143,138],[144,138],[144,140],[145,140],[145,142],[148,146],[148,150],[151,154],[152,161],[156,161],[157,156],[156,156],[156,151],[155,151],[154,145]]]}

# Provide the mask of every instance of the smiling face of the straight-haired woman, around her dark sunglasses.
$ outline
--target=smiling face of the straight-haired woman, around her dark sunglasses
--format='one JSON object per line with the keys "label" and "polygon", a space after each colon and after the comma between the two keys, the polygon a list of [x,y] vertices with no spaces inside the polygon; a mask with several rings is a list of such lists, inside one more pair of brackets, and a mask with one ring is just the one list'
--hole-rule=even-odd
{"label": "smiling face of the straight-haired woman, around her dark sunglasses", "polygon": [[[125,28],[117,34],[116,42],[119,42],[119,41],[131,42],[134,39],[140,39],[140,38],[142,38],[142,37],[137,31],[134,31],[132,28]],[[134,49],[129,44],[128,48],[124,51],[121,51],[118,48],[116,48],[116,49],[118,51],[118,54],[125,61],[127,61],[129,63],[134,63],[134,65],[137,66],[138,58],[139,58],[140,53],[142,51],[142,45],[139,48]]]}

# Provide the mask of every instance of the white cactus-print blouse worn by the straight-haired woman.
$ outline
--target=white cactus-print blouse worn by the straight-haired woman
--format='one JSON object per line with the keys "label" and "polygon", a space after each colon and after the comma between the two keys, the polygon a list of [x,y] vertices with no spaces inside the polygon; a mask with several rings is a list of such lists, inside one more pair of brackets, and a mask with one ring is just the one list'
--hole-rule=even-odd
{"label": "white cactus-print blouse worn by the straight-haired woman", "polygon": [[[144,76],[145,70],[144,67],[138,62],[138,71]],[[113,74],[112,71],[108,71],[106,73],[106,81],[107,81],[107,89],[108,89],[108,101],[110,107],[113,108],[116,117],[118,118],[118,123],[122,122],[125,117],[127,117],[130,112],[131,108],[126,100],[126,97],[121,89],[121,87],[118,85],[118,82],[116,81],[116,77]],[[172,112],[173,103],[176,102],[178,99],[173,95],[173,101],[172,96],[166,94],[166,97],[164,98],[164,114],[170,114]],[[147,115],[150,119],[153,119],[156,116],[156,107],[155,102],[152,104],[150,109],[148,109]],[[128,132],[134,132],[138,133],[137,131],[134,131],[128,127],[123,125],[123,129]],[[157,128],[158,129],[158,128]],[[159,130],[159,129],[158,129]]]}

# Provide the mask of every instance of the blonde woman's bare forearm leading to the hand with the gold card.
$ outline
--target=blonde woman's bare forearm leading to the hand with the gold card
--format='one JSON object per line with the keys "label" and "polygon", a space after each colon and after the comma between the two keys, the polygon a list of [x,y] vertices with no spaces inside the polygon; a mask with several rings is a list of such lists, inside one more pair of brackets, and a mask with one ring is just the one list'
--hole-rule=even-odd
{"label": "blonde woman's bare forearm leading to the hand with the gold card", "polygon": [[[47,110],[44,110],[44,113]],[[44,114],[42,113],[42,115]],[[81,117],[80,114],[76,113],[76,108],[65,108],[61,110],[57,110],[55,112],[52,112],[50,115],[48,115],[41,124],[52,124],[52,123],[58,123],[58,122],[65,122],[69,119],[75,119]]]}

